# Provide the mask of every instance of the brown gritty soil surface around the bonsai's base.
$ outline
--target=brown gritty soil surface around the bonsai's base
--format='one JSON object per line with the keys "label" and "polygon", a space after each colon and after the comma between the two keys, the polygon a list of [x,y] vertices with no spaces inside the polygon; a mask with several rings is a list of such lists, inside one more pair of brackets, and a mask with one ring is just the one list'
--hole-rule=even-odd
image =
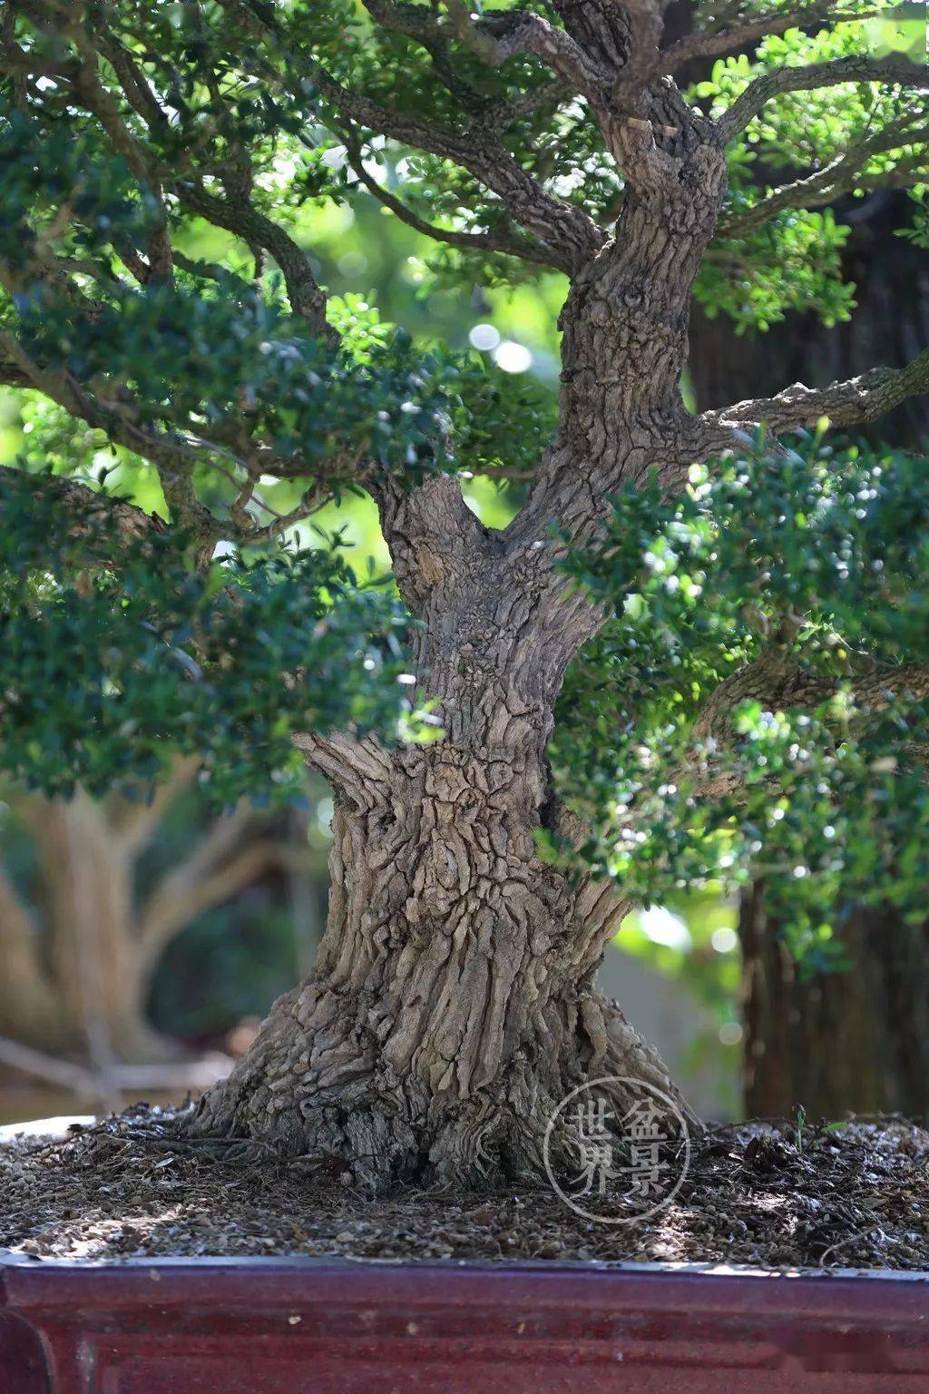
{"label": "brown gritty soil surface around the bonsai's base", "polygon": [[712,1128],[670,1206],[607,1225],[545,1186],[365,1196],[336,1161],[184,1143],[171,1114],[138,1105],[64,1139],[0,1144],[0,1248],[929,1269],[929,1132],[903,1119]]}

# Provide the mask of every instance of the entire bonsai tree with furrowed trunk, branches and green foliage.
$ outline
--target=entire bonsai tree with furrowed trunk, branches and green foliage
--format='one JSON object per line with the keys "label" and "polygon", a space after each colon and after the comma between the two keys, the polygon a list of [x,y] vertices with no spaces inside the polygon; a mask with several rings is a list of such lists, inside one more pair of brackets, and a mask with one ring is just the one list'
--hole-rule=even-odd
{"label": "entire bonsai tree with furrowed trunk, branches and green foliage", "polygon": [[[670,46],[662,10],[6,7],[0,375],[52,407],[4,484],[4,761],[96,792],[196,753],[221,802],[286,795],[292,746],[334,790],[316,969],[194,1132],[535,1174],[585,1079],[674,1092],[593,986],[632,905],[776,867],[816,958],[847,891],[925,878],[929,487],[820,424],[923,390],[929,351],[699,414],[681,379],[695,294],[848,312],[840,194],[912,187],[925,241],[929,75],[869,52],[880,3]],[[304,210],[362,198],[444,283],[565,277],[556,421],[327,300]],[[88,481],[104,442],[149,509]],[[506,530],[479,473],[513,477]],[[284,545],[355,491],[396,594]]]}

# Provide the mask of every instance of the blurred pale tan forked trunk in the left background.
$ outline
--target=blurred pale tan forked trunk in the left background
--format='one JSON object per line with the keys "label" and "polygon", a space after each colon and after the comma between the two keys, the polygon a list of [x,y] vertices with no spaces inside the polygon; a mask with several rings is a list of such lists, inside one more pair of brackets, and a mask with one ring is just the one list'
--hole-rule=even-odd
{"label": "blurred pale tan forked trunk in the left background", "polygon": [[[0,875],[0,1036],[53,1055],[109,1064],[177,1059],[178,1043],[146,1019],[159,955],[199,910],[221,903],[280,859],[238,810],[210,824],[189,856],[136,905],[138,859],[196,764],[180,761],[150,804],[17,795],[38,853],[36,923]],[[40,928],[39,928],[40,924]]]}

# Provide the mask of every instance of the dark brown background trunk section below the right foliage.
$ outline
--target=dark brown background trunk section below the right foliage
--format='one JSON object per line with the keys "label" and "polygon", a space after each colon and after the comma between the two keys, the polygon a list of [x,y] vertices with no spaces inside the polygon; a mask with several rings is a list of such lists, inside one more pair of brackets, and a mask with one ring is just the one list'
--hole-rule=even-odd
{"label": "dark brown background trunk section below the right foliage", "polygon": [[783,1118],[929,1115],[929,930],[859,909],[841,927],[851,967],[802,979],[765,906],[742,899],[745,1108]]}

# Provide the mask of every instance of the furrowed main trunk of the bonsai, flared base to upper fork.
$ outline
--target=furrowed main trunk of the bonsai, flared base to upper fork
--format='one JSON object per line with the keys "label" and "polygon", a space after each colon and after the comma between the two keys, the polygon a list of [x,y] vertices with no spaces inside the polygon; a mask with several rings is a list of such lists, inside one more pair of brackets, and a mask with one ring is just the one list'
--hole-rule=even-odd
{"label": "furrowed main trunk of the bonsai, flared base to upper fork", "polygon": [[554,569],[547,524],[591,537],[606,496],[694,459],[678,379],[687,305],[723,197],[720,151],[613,132],[638,171],[616,240],[575,275],[563,312],[557,439],[507,533],[457,482],[377,487],[412,612],[415,675],[443,739],[393,756],[306,749],[337,796],[331,896],[313,976],[198,1105],[203,1135],[330,1153],[373,1182],[539,1174],[556,1104],[604,1075],[674,1086],[593,979],[628,909],[535,855],[560,814],[545,744],[565,665],[598,613]]}

